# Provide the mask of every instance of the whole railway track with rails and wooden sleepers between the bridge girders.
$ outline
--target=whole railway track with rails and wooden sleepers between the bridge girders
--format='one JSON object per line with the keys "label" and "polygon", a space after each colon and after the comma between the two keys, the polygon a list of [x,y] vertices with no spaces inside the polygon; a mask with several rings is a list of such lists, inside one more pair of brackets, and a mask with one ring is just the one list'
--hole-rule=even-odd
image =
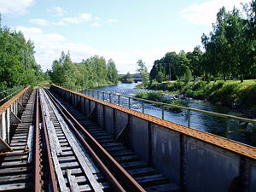
{"label": "whole railway track with rails and wooden sleepers between the bridge girders", "polygon": [[[93,121],[33,90],[1,154],[0,191],[178,191]],[[63,105],[64,104],[64,105]]]}

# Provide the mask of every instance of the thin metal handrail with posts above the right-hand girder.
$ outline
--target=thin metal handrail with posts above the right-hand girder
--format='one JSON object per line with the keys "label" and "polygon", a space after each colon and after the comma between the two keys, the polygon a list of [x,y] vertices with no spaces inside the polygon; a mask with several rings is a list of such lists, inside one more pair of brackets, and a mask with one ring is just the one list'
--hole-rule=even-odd
{"label": "thin metal handrail with posts above the right-hand girder", "polygon": [[[154,101],[150,101],[150,100],[146,100],[146,99],[141,99],[141,98],[137,98],[137,97],[133,97],[133,96],[123,96],[123,95],[119,95],[119,94],[111,93],[111,92],[107,92],[107,91],[102,91],[102,90],[82,89],[79,87],[69,87],[68,89],[77,91],[77,92],[83,92],[87,96],[95,97],[96,99],[100,99],[104,102],[110,102],[113,104],[117,104],[119,106],[123,104],[122,105],[123,107],[130,108],[130,109],[131,109],[131,101],[137,101],[137,102],[140,102],[139,109],[141,109],[142,113],[145,113],[145,103],[151,103],[160,108],[161,119],[165,119],[166,107],[183,109],[183,110],[187,111],[186,126],[189,128],[193,128],[193,127],[191,127],[191,113],[192,112],[212,115],[213,117],[218,117],[218,118],[223,118],[223,119],[225,119],[225,122],[226,122],[226,125],[225,125],[226,132],[225,132],[224,137],[226,137],[228,139],[230,138],[230,133],[232,133],[230,120],[251,123],[251,124],[253,124],[253,126],[256,126],[256,119],[247,119],[247,118],[242,118],[242,117],[233,116],[233,115],[224,114],[224,113],[215,113],[215,112],[211,112],[211,111],[201,110],[201,109],[197,109],[197,108],[187,108],[187,107],[173,105],[173,104],[164,103],[164,102],[154,102]],[[124,104],[124,101],[121,102],[121,100],[124,98],[126,99],[126,101],[125,101],[126,104]]]}

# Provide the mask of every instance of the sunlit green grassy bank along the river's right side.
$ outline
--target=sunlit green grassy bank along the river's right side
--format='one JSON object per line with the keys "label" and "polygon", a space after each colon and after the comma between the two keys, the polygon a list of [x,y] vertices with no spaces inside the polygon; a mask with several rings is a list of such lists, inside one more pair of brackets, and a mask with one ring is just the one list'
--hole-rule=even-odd
{"label": "sunlit green grassy bank along the river's right side", "polygon": [[[195,99],[214,102],[231,108],[238,108],[249,118],[256,117],[256,80],[240,81],[216,81],[207,83],[195,81],[163,82],[148,85],[149,90],[166,90],[170,95],[181,94]],[[164,92],[164,93],[165,93]]]}

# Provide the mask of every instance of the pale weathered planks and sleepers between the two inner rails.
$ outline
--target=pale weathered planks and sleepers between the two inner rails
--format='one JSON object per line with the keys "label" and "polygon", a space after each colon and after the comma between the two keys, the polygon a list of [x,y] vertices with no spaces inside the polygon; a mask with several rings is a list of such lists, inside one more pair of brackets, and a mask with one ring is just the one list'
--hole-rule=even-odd
{"label": "pale weathered planks and sleepers between the two inner rails", "polygon": [[54,167],[50,175],[55,177],[51,180],[56,181],[51,182],[51,188],[54,191],[109,190],[108,182],[44,90],[40,90],[40,104],[49,166]]}

